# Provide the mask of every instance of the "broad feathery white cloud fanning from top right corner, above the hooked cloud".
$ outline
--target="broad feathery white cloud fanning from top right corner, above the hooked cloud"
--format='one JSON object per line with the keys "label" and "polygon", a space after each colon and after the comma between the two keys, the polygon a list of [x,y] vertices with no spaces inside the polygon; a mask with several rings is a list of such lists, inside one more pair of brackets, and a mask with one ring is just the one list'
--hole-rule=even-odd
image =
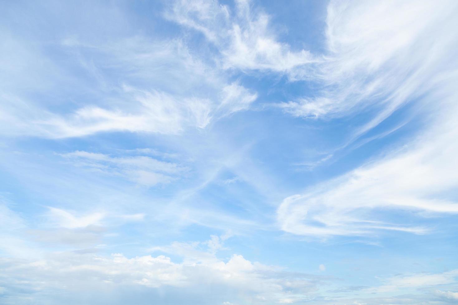
{"label": "broad feathery white cloud fanning from top right corner, above the hooked cloud", "polygon": [[318,90],[280,107],[295,117],[325,119],[376,108],[355,134],[373,128],[436,86],[432,75],[455,69],[449,65],[455,34],[443,29],[457,26],[456,9],[454,1],[331,1],[327,53],[297,75],[318,83]]}

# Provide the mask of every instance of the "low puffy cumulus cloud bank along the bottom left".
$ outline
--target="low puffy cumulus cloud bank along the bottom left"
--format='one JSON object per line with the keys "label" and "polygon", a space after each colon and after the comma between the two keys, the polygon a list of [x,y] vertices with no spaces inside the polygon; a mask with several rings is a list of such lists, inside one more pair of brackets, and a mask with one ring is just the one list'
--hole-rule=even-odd
{"label": "low puffy cumulus cloud bank along the bottom left", "polygon": [[[196,243],[189,243],[186,247],[194,249],[193,245]],[[0,283],[10,291],[8,297],[19,300],[28,296],[27,293],[14,293],[18,285],[25,285],[25,291],[46,293],[65,289],[72,294],[82,289],[87,292],[91,286],[95,289],[138,286],[162,291],[177,288],[182,294],[191,295],[191,291],[198,291],[202,293],[199,298],[207,298],[204,292],[212,287],[212,291],[219,292],[218,303],[228,302],[227,299],[231,298],[234,304],[245,298],[284,302],[288,299],[286,296],[293,292],[306,293],[315,289],[316,279],[307,279],[306,275],[296,274],[285,279],[278,267],[250,262],[237,254],[223,260],[212,254],[211,246],[208,250],[203,250],[207,253],[206,257],[195,256],[194,260],[185,257],[183,262],[173,262],[164,255],[129,258],[120,253],[104,257],[91,253],[60,252],[37,261],[2,258],[0,268],[9,280],[6,283],[0,278]],[[182,255],[180,251],[175,254]],[[26,278],[27,283],[23,281]],[[234,289],[238,294],[231,293]],[[39,295],[35,297],[39,300]]]}

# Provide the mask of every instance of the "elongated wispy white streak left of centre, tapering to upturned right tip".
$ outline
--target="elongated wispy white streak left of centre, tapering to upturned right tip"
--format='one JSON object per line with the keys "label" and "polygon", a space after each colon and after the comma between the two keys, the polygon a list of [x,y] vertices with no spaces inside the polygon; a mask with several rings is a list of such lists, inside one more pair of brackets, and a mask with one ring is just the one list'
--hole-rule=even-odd
{"label": "elongated wispy white streak left of centre, tapering to upturned right tip", "polygon": [[[132,89],[126,89],[131,91]],[[33,123],[41,136],[81,137],[98,132],[179,134],[187,128],[205,128],[212,120],[246,110],[257,95],[236,83],[221,88],[218,98],[173,96],[162,91],[135,91],[129,110],[87,106],[66,116],[50,114]]]}

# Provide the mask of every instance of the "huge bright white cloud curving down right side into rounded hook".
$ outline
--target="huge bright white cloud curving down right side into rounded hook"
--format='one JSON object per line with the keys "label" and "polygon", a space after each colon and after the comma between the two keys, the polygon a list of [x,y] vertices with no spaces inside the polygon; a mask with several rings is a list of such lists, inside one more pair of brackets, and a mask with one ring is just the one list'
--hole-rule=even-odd
{"label": "huge bright white cloud curving down right side into rounded hook", "polygon": [[[404,102],[418,98],[419,94],[423,96],[417,102],[427,105],[430,112],[429,118],[425,119],[428,128],[403,146],[399,145],[398,149],[385,151],[384,155],[373,157],[370,162],[347,174],[309,187],[305,193],[285,198],[277,210],[278,223],[284,231],[315,236],[372,235],[382,230],[424,234],[428,232],[427,228],[393,221],[393,213],[409,213],[417,220],[429,215],[458,213],[457,198],[444,195],[444,192],[458,187],[454,170],[458,166],[458,145],[454,141],[458,137],[455,119],[458,95],[453,85],[458,81],[458,67],[448,62],[451,58],[450,50],[453,49],[451,34],[437,29],[442,27],[443,22],[450,25],[456,20],[444,12],[448,10],[445,4],[435,6],[434,9],[438,10],[436,14],[431,14],[429,3],[418,5],[418,2],[406,2],[396,8],[390,5],[391,2],[375,6],[363,2],[343,6],[340,2],[330,4],[329,44],[334,50],[344,52],[342,59],[338,59],[343,61],[338,61],[337,71],[330,77],[333,81],[341,80],[340,77],[344,75],[350,75],[350,79],[364,79],[364,86],[368,87],[364,87],[361,96],[367,97],[367,101],[376,101],[380,96],[386,98],[387,108],[356,134],[374,127]],[[414,11],[409,11],[409,8],[414,8]],[[390,17],[393,23],[386,23],[387,14],[392,11],[395,12]],[[412,15],[414,12],[425,16],[425,20],[417,19],[417,15]],[[354,14],[357,13],[365,17],[356,18]],[[404,15],[405,19],[402,18]],[[411,19],[415,22],[403,28],[400,36],[388,37],[397,31],[398,25]],[[365,30],[356,33],[356,28],[363,21],[368,22]],[[431,37],[426,28],[437,29],[435,39],[438,44],[428,41]],[[353,31],[357,40],[352,36]],[[384,48],[379,46],[380,40],[386,44]],[[375,48],[380,51],[371,53]],[[409,70],[411,75],[406,77],[403,69]],[[332,71],[329,70],[329,73]],[[373,87],[373,84],[367,83],[367,75],[378,78],[376,82],[380,82],[379,89],[382,91],[366,90]],[[397,76],[390,79],[387,75]],[[402,77],[402,80],[397,77]],[[386,82],[385,78],[389,81]],[[342,81],[351,90],[355,88],[353,83]],[[344,87],[338,86],[335,92],[346,94],[345,91]],[[363,100],[356,97],[351,101],[360,103]],[[332,106],[334,110],[340,107],[338,101],[336,105]],[[346,102],[342,105],[345,110],[356,107],[356,104]]]}

